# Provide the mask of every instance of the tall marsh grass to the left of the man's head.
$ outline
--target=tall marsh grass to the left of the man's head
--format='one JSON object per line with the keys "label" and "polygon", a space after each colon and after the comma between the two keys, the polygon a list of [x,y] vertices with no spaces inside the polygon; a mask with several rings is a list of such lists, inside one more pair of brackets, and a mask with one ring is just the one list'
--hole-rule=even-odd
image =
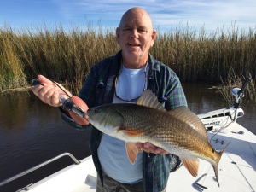
{"label": "tall marsh grass to the left of the man's head", "polygon": [[0,90],[25,86],[38,74],[80,87],[93,64],[119,50],[113,31],[96,32],[90,24],[64,31],[0,29]]}

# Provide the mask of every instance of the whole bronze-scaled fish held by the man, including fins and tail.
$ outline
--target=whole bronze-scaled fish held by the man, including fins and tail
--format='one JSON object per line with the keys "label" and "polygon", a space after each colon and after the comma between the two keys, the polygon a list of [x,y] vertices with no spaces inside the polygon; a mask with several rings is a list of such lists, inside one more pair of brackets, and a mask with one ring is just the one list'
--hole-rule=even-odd
{"label": "whole bronze-scaled fish held by the man, including fins and tail", "polygon": [[218,162],[225,148],[221,152],[212,148],[204,125],[188,108],[166,112],[156,96],[145,90],[137,104],[107,104],[88,109],[87,115],[97,129],[125,141],[131,163],[139,151],[135,143],[148,142],[179,156],[194,177],[199,166],[197,158],[207,160],[218,182]]}

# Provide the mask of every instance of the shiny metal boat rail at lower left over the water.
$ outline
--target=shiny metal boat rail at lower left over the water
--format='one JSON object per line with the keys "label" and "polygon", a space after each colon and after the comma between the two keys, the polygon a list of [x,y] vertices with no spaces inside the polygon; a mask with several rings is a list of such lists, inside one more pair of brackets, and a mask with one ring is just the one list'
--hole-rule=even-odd
{"label": "shiny metal boat rail at lower left over the water", "polygon": [[24,172],[20,172],[19,174],[15,175],[14,177],[9,177],[8,179],[5,179],[3,180],[2,182],[0,182],[0,187],[3,186],[4,184],[6,183],[10,183],[12,181],[14,181],[15,179],[19,178],[19,177],[22,177],[24,175],[26,175],[27,173],[30,173],[30,172],[33,172],[35,170],[37,170],[38,168],[42,167],[42,166],[46,166],[47,164],[55,161],[55,160],[58,160],[60,159],[61,157],[64,157],[64,156],[69,156],[76,165],[78,165],[80,163],[79,160],[77,160],[73,154],[70,154],[70,153],[63,153],[63,154],[59,154],[57,156],[55,156],[54,158],[50,159],[50,160],[46,160],[44,161],[43,163],[39,164],[38,166],[33,166],[32,168],[24,171]]}

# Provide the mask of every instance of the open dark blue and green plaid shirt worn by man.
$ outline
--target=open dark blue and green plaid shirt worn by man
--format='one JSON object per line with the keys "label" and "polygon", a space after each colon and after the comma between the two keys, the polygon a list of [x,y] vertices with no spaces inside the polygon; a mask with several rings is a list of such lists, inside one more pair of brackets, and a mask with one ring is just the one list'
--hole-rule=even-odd
{"label": "open dark blue and green plaid shirt worn by man", "polygon": [[[152,55],[148,55],[148,89],[152,90],[166,110],[172,110],[179,106],[187,106],[183,88],[176,73],[166,67],[160,61],[156,61]],[[117,77],[121,67],[121,51],[117,55],[108,57],[98,62],[84,82],[79,92],[79,97],[84,100],[89,108],[112,103],[114,95],[114,79]],[[73,119],[62,113],[62,119],[78,129],[85,129],[88,126],[77,125]],[[90,134],[90,151],[96,171],[101,181],[102,167],[97,155],[97,148],[101,143],[102,132],[92,126]],[[166,188],[170,173],[171,154],[148,154],[143,152],[143,186],[144,191],[161,191]]]}

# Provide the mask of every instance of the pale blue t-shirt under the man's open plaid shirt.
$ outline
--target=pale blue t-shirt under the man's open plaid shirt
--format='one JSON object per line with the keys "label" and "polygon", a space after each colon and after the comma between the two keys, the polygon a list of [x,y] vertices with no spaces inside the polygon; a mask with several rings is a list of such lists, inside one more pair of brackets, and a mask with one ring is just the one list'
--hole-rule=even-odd
{"label": "pale blue t-shirt under the man's open plaid shirt", "polygon": [[[117,96],[129,101],[141,96],[144,88],[147,88],[144,73],[146,67],[147,65],[140,69],[128,69],[122,66],[116,83]],[[148,67],[146,70],[146,75],[148,76]],[[113,103],[120,102],[125,101],[114,95]],[[143,153],[138,153],[137,160],[132,165],[127,157],[124,141],[103,133],[97,153],[102,170],[108,177],[112,177],[120,183],[137,183],[143,178]]]}

